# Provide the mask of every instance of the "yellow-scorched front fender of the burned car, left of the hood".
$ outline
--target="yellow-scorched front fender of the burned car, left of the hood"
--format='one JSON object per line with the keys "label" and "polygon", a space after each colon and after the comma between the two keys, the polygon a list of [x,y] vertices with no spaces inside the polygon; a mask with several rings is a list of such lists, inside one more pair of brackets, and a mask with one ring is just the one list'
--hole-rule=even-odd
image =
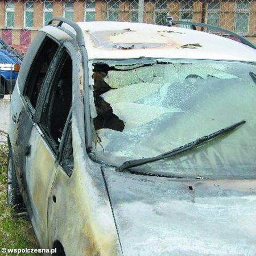
{"label": "yellow-scorched front fender of the burned car, left of the hood", "polygon": [[49,246],[58,240],[65,255],[122,255],[100,165],[86,158],[83,148],[77,152],[80,143],[74,143],[72,176],[60,166],[55,171],[48,206]]}

